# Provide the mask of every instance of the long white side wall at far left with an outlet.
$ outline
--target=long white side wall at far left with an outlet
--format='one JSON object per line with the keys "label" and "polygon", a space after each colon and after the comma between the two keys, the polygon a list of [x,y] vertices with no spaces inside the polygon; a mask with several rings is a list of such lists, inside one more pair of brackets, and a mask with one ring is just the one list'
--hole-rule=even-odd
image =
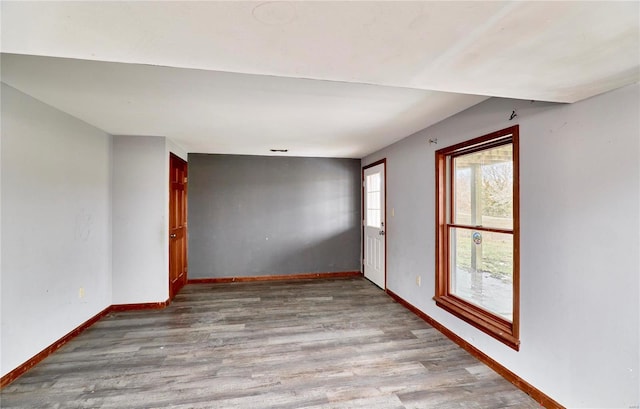
{"label": "long white side wall at far left with an outlet", "polygon": [[5,84],[1,131],[4,375],[111,304],[111,137]]}

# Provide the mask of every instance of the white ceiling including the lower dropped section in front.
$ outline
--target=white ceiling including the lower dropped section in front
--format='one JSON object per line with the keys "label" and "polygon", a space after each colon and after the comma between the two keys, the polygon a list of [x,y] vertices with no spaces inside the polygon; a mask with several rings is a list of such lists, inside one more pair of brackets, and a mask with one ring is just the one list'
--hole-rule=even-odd
{"label": "white ceiling including the lower dropped section in front", "polygon": [[632,2],[2,1],[2,82],[189,152],[362,157],[487,96],[640,79]]}

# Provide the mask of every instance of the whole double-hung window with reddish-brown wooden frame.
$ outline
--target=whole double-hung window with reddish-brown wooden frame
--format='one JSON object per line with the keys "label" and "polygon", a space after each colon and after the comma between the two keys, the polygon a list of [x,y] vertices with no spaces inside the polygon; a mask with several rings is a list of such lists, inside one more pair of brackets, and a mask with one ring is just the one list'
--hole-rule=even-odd
{"label": "whole double-hung window with reddish-brown wooden frame", "polygon": [[436,304],[518,350],[518,126],[436,152]]}

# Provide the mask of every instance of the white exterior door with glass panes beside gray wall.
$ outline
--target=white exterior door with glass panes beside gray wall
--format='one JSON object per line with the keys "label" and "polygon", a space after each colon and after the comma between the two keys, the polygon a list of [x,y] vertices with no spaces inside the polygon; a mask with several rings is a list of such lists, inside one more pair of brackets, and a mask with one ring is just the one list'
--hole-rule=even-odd
{"label": "white exterior door with glass panes beside gray wall", "polygon": [[385,163],[364,169],[364,276],[385,289]]}

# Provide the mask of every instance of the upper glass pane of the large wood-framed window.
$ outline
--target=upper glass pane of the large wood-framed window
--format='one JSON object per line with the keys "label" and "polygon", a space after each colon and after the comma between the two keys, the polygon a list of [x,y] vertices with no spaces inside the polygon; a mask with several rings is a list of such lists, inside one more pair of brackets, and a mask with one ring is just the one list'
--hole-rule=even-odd
{"label": "upper glass pane of the large wood-framed window", "polygon": [[457,156],[454,224],[513,229],[513,147]]}

